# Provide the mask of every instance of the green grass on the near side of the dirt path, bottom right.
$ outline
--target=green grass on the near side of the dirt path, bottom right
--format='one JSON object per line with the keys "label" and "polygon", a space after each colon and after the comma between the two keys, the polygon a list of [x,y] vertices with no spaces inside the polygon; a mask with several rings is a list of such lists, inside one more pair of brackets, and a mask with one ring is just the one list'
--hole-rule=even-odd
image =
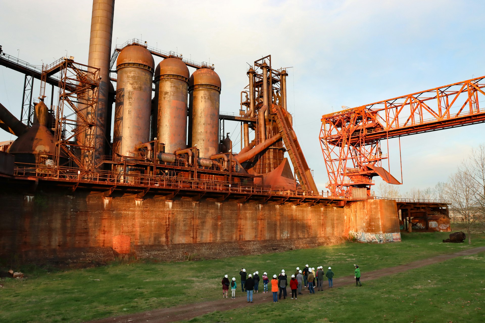
{"label": "green grass on the near side of the dirt path, bottom right", "polygon": [[[253,304],[187,322],[485,322],[485,253],[429,265],[404,274],[343,286],[298,300]],[[305,292],[307,293],[307,292]]]}

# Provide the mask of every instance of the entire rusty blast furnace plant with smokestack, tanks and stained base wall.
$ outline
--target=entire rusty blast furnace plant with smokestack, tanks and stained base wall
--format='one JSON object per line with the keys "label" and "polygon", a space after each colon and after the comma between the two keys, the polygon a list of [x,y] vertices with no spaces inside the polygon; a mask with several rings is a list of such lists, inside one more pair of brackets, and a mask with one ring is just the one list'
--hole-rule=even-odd
{"label": "entire rusty blast furnace plant with smokestack, tanks and stained base wall", "polygon": [[[0,55],[41,80],[27,118],[0,105],[2,129],[18,136],[0,152],[0,257],[180,260],[335,244],[349,234],[400,241],[395,201],[318,191],[287,110],[288,74],[271,55],[250,66],[239,111],[225,114],[214,65],[137,39],[111,53],[113,10],[113,0],[93,1],[87,65],[64,57],[28,70]],[[226,122],[241,125],[239,152]]]}

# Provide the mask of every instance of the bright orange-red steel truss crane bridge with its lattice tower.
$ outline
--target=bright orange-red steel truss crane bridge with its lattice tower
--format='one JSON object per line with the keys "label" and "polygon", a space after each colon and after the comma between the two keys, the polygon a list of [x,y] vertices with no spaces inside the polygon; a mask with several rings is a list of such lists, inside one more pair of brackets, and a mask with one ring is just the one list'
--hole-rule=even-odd
{"label": "bright orange-red steel truss crane bridge with its lattice tower", "polygon": [[[484,88],[485,76],[323,115],[326,187],[333,195],[351,198],[352,188],[366,188],[370,195],[373,176],[401,184],[382,167],[388,154],[382,153],[380,141],[485,122],[485,109],[479,106]],[[399,149],[401,154],[400,141]]]}

